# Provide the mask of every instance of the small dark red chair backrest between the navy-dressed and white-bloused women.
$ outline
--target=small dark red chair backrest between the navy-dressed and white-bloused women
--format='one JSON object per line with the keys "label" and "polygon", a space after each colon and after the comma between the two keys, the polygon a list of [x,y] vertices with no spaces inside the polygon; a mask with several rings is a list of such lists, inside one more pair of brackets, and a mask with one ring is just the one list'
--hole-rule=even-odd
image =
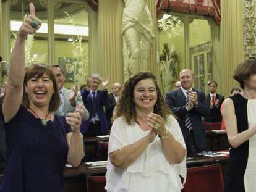
{"label": "small dark red chair backrest between the navy-dressed and white-bloused women", "polygon": [[87,181],[87,192],[106,192],[106,178],[105,176],[88,176]]}

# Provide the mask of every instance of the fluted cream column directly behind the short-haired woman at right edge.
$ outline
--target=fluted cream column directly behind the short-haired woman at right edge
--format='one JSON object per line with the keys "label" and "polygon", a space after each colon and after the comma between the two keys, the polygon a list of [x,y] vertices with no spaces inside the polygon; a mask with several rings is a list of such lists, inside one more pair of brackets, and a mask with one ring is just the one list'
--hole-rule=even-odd
{"label": "fluted cream column directly behind the short-haired woman at right edge", "polygon": [[222,93],[230,94],[231,88],[238,86],[232,75],[237,64],[243,59],[243,1],[221,1],[221,41],[223,42],[223,61],[220,64]]}

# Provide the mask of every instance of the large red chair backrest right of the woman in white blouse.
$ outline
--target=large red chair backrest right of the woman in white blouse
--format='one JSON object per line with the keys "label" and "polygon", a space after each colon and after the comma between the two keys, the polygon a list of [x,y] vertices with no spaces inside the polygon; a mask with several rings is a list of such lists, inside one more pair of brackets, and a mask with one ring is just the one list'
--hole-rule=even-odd
{"label": "large red chair backrest right of the woman in white blouse", "polygon": [[205,191],[224,191],[224,182],[220,164],[187,169],[187,180],[182,192]]}

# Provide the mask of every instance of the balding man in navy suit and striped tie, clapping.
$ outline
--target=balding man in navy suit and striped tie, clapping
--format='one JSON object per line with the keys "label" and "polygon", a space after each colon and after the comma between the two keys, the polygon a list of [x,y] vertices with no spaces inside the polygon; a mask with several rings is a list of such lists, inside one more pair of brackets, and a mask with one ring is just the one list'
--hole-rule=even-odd
{"label": "balding man in navy suit and striped tie, clapping", "polygon": [[166,102],[177,116],[187,147],[187,154],[201,152],[206,148],[206,134],[202,116],[209,114],[205,93],[192,88],[194,75],[190,69],[179,73],[181,88],[166,94]]}

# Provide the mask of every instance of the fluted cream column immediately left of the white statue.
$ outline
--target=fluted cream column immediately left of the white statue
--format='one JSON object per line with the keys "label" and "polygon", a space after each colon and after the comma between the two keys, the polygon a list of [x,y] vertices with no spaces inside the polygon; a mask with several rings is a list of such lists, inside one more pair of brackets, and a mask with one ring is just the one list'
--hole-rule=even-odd
{"label": "fluted cream column immediately left of the white statue", "polygon": [[[98,35],[100,49],[95,54],[100,57],[101,75],[111,76],[108,88],[118,81],[123,83],[121,21],[123,0],[100,0],[98,6]],[[90,34],[93,35],[93,34]]]}

